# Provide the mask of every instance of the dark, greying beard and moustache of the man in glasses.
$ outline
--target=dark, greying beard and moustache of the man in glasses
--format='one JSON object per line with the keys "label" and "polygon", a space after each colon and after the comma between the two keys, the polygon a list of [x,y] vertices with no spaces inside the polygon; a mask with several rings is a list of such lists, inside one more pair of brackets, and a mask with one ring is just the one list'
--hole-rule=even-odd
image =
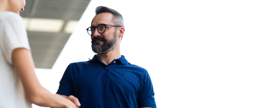
{"label": "dark, greying beard and moustache of the man in glasses", "polygon": [[[96,41],[103,41],[103,45],[95,43]],[[92,51],[94,53],[106,53],[112,50],[117,45],[117,34],[115,33],[113,40],[106,40],[104,37],[94,37],[92,39]]]}

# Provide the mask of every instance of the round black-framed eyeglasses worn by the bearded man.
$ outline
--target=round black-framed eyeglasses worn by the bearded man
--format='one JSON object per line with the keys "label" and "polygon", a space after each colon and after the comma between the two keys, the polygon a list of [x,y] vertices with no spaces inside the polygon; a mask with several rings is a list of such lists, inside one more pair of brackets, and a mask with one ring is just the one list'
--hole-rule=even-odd
{"label": "round black-framed eyeglasses worn by the bearded man", "polygon": [[97,31],[99,33],[104,33],[106,31],[106,26],[116,26],[116,27],[121,27],[121,26],[117,26],[117,25],[110,25],[110,24],[99,24],[98,26],[90,26],[88,27],[86,30],[88,32],[89,35],[93,35],[93,33],[95,32],[95,27],[97,27]]}

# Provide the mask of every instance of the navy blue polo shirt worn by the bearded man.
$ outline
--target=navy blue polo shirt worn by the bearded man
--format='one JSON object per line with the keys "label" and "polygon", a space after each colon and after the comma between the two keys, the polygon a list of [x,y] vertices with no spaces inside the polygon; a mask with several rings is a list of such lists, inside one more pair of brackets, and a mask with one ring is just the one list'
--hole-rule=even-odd
{"label": "navy blue polo shirt worn by the bearded man", "polygon": [[156,108],[148,72],[123,55],[108,65],[97,54],[87,62],[69,64],[57,94],[74,95],[79,108]]}

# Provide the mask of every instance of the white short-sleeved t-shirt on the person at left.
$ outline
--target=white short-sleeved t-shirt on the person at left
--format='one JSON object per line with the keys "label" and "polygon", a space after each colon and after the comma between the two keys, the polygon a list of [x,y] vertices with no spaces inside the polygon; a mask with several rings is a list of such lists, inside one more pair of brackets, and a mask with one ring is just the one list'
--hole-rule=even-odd
{"label": "white short-sleeved t-shirt on the person at left", "polygon": [[0,108],[32,108],[11,60],[15,48],[30,50],[24,22],[17,13],[0,11]]}

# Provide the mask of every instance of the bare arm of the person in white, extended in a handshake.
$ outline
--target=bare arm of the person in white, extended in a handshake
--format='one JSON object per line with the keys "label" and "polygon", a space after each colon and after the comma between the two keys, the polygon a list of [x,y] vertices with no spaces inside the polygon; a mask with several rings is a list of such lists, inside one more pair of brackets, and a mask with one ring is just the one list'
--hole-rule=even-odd
{"label": "bare arm of the person in white, extended in a handshake", "polygon": [[12,61],[23,84],[26,99],[31,103],[52,108],[77,108],[80,106],[76,97],[65,98],[58,94],[52,94],[41,86],[35,73],[31,52],[26,48],[14,49]]}

